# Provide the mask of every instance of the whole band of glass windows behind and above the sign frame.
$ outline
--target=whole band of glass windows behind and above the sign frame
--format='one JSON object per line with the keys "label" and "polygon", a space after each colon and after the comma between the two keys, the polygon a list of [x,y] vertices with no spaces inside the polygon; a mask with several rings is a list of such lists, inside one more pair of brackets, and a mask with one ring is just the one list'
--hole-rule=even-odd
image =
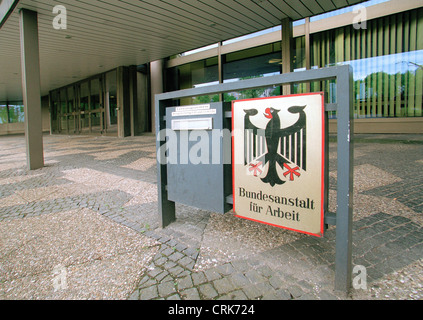
{"label": "whole band of glass windows behind and above the sign frame", "polygon": [[[423,91],[423,8],[310,35],[311,68],[350,64],[354,73],[356,118],[421,117]],[[305,36],[294,38],[293,69],[305,70]],[[281,72],[281,43],[270,43],[221,56],[221,81],[265,77]],[[334,81],[334,80],[333,80]],[[310,84],[310,91],[324,91],[326,101],[336,102],[335,83]],[[218,57],[167,69],[168,91],[219,83]],[[169,85],[170,84],[170,85]],[[293,85],[304,93],[306,84]],[[280,95],[280,87],[225,93],[222,98],[197,97],[181,105],[231,101]],[[336,112],[331,112],[331,118]]]}

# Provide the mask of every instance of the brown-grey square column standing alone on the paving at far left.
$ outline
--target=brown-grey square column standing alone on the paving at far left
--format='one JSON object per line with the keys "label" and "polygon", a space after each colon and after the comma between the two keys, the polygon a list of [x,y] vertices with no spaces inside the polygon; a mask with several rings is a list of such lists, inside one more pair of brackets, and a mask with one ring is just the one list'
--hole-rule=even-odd
{"label": "brown-grey square column standing alone on the paving at far left", "polygon": [[37,12],[19,14],[26,155],[28,169],[35,170],[44,166]]}

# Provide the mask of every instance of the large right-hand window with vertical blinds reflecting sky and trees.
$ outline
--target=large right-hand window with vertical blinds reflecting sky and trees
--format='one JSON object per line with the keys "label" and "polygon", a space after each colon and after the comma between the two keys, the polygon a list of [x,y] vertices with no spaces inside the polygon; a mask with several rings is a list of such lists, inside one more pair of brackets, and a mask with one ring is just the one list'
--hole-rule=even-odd
{"label": "large right-hand window with vertical blinds reflecting sky and trees", "polygon": [[[313,34],[312,67],[350,64],[356,118],[421,117],[423,9]],[[319,85],[315,85],[317,90]],[[329,97],[329,86],[321,85]]]}

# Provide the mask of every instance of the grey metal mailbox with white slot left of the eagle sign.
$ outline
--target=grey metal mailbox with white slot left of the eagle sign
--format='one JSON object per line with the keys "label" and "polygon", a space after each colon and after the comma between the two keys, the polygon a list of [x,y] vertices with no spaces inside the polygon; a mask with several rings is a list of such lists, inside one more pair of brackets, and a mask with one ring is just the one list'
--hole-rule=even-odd
{"label": "grey metal mailbox with white slot left of the eagle sign", "polygon": [[166,129],[173,131],[168,143],[177,143],[168,146],[177,150],[167,164],[169,200],[218,213],[231,209],[230,110],[224,102],[166,108]]}

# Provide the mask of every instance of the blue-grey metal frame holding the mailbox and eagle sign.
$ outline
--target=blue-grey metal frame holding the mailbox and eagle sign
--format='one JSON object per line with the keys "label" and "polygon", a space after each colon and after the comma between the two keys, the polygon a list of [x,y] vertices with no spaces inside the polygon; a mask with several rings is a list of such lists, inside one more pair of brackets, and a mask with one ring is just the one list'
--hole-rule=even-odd
{"label": "blue-grey metal frame holding the mailbox and eagle sign", "polygon": [[[311,69],[300,72],[221,83],[185,89],[155,96],[155,128],[157,150],[157,187],[160,227],[175,221],[175,203],[167,197],[167,170],[164,148],[166,107],[173,99],[220,94],[272,85],[286,85],[311,81],[335,80],[336,101],[325,105],[325,111],[337,111],[337,209],[325,212],[325,223],[336,225],[335,290],[348,293],[352,278],[352,213],[353,213],[353,72],[350,65]],[[229,115],[230,116],[230,115]]]}

